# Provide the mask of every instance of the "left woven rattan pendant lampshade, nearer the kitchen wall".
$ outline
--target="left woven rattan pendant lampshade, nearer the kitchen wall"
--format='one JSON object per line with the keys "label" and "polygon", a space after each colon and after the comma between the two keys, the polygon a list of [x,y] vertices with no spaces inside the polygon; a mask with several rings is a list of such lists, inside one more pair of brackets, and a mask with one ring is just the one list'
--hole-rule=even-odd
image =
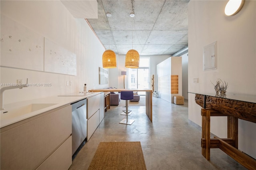
{"label": "left woven rattan pendant lampshade, nearer the kitchen wall", "polygon": [[108,49],[102,54],[103,68],[110,69],[116,67],[116,54],[114,51]]}

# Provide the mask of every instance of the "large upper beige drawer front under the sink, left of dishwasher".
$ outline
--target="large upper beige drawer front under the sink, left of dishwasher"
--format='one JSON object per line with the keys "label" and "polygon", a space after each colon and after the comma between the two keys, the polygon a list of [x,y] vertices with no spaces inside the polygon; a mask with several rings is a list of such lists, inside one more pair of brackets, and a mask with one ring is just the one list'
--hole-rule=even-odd
{"label": "large upper beige drawer front under the sink, left of dishwasher", "polygon": [[[72,107],[49,111],[9,130],[5,128],[1,128],[0,169],[36,169],[72,134]],[[72,153],[69,156],[72,159]]]}

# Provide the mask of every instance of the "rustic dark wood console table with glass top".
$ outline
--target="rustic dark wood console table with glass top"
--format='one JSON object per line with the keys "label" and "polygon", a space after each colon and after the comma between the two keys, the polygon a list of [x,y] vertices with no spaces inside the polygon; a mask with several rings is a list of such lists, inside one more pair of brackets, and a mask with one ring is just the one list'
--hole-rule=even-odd
{"label": "rustic dark wood console table with glass top", "polygon": [[[238,119],[256,123],[256,96],[194,93],[195,101],[202,107],[202,155],[210,160],[210,148],[220,148],[244,167],[255,170],[256,160],[238,150]],[[210,117],[228,117],[228,136],[210,138]],[[253,129],[256,132],[256,129]]]}

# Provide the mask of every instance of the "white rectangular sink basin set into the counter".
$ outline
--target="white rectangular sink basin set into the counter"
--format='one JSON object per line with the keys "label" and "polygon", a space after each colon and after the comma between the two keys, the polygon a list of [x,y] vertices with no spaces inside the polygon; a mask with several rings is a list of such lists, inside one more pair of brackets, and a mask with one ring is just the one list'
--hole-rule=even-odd
{"label": "white rectangular sink basin set into the counter", "polygon": [[18,117],[21,115],[25,115],[27,113],[38,111],[56,104],[57,103],[32,103],[30,105],[25,105],[25,106],[13,108],[13,109],[4,109],[1,111],[1,120],[12,119],[14,117]]}

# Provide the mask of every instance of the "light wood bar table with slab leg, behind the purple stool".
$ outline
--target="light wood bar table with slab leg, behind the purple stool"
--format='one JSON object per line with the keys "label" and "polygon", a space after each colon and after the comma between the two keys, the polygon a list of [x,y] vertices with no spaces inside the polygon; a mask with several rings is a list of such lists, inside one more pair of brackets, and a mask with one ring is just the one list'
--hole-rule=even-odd
{"label": "light wood bar table with slab leg, behind the purple stool", "polygon": [[152,90],[150,89],[91,89],[93,92],[110,92],[110,91],[145,91],[146,92],[146,115],[152,122]]}

